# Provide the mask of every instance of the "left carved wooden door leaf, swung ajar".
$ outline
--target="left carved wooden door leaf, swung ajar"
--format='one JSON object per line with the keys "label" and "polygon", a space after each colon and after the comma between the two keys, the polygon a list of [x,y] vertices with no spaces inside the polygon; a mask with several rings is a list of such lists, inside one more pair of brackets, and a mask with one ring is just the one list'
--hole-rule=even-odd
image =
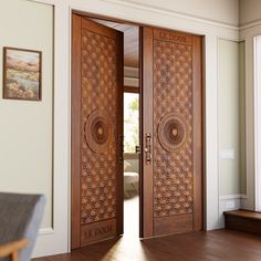
{"label": "left carved wooden door leaf, swung ajar", "polygon": [[72,249],[123,233],[123,34],[72,17]]}

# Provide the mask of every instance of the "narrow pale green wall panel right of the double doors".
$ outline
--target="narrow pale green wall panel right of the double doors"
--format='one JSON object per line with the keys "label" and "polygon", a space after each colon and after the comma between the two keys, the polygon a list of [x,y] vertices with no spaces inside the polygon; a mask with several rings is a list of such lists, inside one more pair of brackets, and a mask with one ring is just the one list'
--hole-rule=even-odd
{"label": "narrow pale green wall panel right of the double doors", "polygon": [[240,194],[239,44],[218,40],[220,196]]}

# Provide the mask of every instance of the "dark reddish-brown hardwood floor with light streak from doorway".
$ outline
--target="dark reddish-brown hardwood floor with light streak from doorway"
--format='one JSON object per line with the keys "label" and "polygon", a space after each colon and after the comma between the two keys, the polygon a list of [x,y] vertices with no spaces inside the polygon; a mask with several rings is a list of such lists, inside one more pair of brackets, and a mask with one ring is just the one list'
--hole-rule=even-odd
{"label": "dark reddish-brown hardwood floor with light streak from doorway", "polygon": [[139,241],[121,237],[34,261],[260,261],[261,237],[233,230],[192,232]]}

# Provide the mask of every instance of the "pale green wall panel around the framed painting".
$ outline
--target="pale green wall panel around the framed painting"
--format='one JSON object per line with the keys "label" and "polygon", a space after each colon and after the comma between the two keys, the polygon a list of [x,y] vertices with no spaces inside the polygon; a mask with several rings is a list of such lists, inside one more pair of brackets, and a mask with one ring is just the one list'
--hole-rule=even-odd
{"label": "pale green wall panel around the framed painting", "polygon": [[[0,97],[0,191],[44,194],[42,227],[52,227],[53,8],[24,0],[0,8],[2,48],[42,51],[42,101]],[[0,62],[2,93],[2,62]]]}

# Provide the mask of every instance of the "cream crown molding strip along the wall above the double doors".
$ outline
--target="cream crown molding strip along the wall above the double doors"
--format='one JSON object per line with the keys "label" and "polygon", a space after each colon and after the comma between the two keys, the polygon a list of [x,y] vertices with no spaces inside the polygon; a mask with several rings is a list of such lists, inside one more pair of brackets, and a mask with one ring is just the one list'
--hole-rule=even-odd
{"label": "cream crown molding strip along the wall above the double doors", "polygon": [[102,0],[102,1],[122,4],[122,6],[126,6],[126,7],[130,7],[130,8],[135,8],[135,9],[142,9],[145,11],[161,13],[165,15],[181,18],[181,19],[190,20],[192,22],[207,23],[209,25],[222,27],[222,28],[230,29],[230,30],[239,30],[239,27],[234,25],[234,24],[220,22],[220,21],[216,21],[216,20],[211,20],[211,19],[206,19],[206,18],[198,17],[198,15],[191,15],[191,14],[187,14],[187,13],[182,13],[182,12],[169,11],[165,8],[156,8],[150,4],[146,4],[146,3],[136,3],[132,0],[128,0],[128,1],[125,1],[125,0]]}

